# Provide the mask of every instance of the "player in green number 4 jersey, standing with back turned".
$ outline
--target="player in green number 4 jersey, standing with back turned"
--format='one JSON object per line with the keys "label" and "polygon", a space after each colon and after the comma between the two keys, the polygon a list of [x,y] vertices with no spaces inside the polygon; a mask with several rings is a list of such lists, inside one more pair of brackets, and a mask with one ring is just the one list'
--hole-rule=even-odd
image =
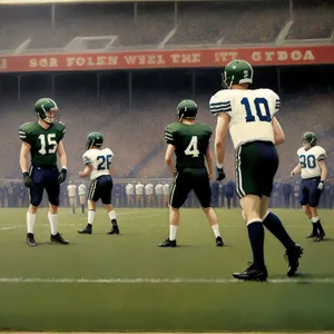
{"label": "player in green number 4 jersey, standing with back turned", "polygon": [[[216,213],[212,208],[209,179],[214,176],[214,159],[209,148],[212,129],[205,124],[196,124],[197,105],[193,100],[183,100],[177,106],[178,122],[165,128],[168,144],[165,161],[174,175],[169,196],[169,237],[159,247],[176,247],[176,233],[179,223],[179,208],[193,189],[214,230],[216,246],[224,245]],[[173,155],[176,156],[174,167]],[[207,161],[208,170],[205,166]]]}

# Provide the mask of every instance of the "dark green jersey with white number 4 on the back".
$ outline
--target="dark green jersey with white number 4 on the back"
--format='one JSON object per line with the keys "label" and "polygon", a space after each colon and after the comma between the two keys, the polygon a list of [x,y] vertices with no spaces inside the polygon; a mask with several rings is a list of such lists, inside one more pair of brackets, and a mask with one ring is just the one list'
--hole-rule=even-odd
{"label": "dark green jersey with white number 4 on the back", "polygon": [[167,144],[176,147],[176,170],[205,168],[205,154],[213,130],[206,124],[171,122],[165,128]]}

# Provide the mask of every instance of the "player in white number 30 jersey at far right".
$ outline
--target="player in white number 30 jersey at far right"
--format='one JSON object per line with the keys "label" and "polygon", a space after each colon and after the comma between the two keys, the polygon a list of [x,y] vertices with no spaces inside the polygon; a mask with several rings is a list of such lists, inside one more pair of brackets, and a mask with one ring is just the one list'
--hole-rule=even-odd
{"label": "player in white number 30 jersey at far right", "polygon": [[313,132],[303,136],[303,147],[297,150],[298,165],[293,169],[291,176],[302,174],[302,185],[299,188],[301,205],[303,212],[312,222],[312,233],[307,238],[315,238],[316,242],[324,239],[325,232],[322,227],[317,205],[327,178],[327,167],[325,159],[326,151],[316,145],[316,137]]}

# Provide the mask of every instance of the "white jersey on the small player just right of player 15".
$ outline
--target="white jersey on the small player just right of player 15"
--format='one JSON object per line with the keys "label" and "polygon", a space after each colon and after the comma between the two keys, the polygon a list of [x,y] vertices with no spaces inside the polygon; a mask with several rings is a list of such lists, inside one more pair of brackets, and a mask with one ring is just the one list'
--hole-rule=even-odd
{"label": "white jersey on the small player just right of player 15", "polygon": [[84,164],[91,166],[90,179],[94,180],[102,175],[109,175],[109,167],[111,165],[114,154],[110,148],[88,149],[84,156]]}

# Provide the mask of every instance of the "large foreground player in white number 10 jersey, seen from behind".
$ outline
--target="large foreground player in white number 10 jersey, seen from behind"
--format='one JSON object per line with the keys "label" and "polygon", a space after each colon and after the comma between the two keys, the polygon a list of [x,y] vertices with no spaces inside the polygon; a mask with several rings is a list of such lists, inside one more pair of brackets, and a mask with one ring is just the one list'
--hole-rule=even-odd
{"label": "large foreground player in white number 10 jersey, seen from behind", "polygon": [[267,209],[273,179],[278,168],[275,145],[284,143],[285,136],[275,117],[281,105],[278,96],[271,89],[248,89],[253,82],[253,73],[247,61],[230,61],[223,76],[225,89],[210,98],[209,107],[212,114],[217,116],[217,179],[225,177],[223,163],[229,131],[236,150],[236,190],[253,250],[253,264],[233,276],[244,281],[266,281],[264,226],[286,248],[288,276],[297,271],[303,248],[292,240],[279,218]]}

